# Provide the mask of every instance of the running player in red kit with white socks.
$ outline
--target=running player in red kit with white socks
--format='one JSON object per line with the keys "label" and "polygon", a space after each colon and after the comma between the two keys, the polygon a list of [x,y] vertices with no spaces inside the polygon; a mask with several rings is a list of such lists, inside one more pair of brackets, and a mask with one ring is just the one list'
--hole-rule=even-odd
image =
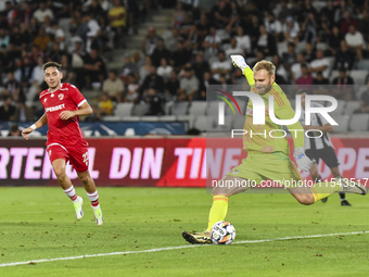
{"label": "running player in red kit with white socks", "polygon": [[22,135],[28,140],[28,135],[44,125],[49,125],[47,151],[58,181],[74,204],[77,219],[84,216],[84,199],[78,197],[69,177],[65,174],[65,164],[71,162],[78,178],[84,184],[98,225],[102,225],[103,216],[99,204],[99,194],[94,181],[88,171],[88,143],[79,128],[79,117],[92,113],[92,109],[71,84],[63,84],[62,65],[48,62],[43,65],[44,81],[49,89],[40,93],[44,114]]}

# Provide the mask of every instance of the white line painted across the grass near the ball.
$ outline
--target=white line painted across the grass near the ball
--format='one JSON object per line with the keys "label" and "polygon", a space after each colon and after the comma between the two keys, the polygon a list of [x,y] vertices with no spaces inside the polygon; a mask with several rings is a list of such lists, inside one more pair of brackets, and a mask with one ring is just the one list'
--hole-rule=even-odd
{"label": "white line painted across the grass near the ball", "polygon": [[[269,241],[293,240],[293,239],[311,239],[311,238],[334,237],[334,236],[352,236],[352,235],[358,235],[358,234],[369,234],[369,230],[365,230],[365,231],[352,231],[352,232],[310,235],[310,236],[300,236],[300,237],[285,237],[285,238],[276,238],[276,239],[242,240],[242,241],[236,241],[233,244],[240,244],[240,243],[260,243],[260,242],[269,242]],[[77,259],[84,259],[84,257],[113,256],[113,255],[124,255],[124,254],[150,253],[150,252],[160,252],[160,251],[166,251],[166,250],[176,250],[176,249],[186,249],[186,248],[195,248],[195,247],[208,247],[208,245],[211,245],[211,244],[191,244],[191,245],[181,245],[181,247],[171,247],[171,248],[154,248],[154,249],[147,249],[147,250],[138,250],[138,251],[125,251],[125,252],[112,252],[112,253],[100,253],[100,254],[87,254],[87,255],[79,255],[79,256],[64,256],[64,257],[42,259],[42,260],[34,260],[34,261],[26,261],[26,262],[15,262],[15,263],[0,264],[0,267],[14,266],[14,265],[27,265],[29,263],[37,264],[37,263],[54,262],[54,261],[68,261],[68,260],[77,260]]]}

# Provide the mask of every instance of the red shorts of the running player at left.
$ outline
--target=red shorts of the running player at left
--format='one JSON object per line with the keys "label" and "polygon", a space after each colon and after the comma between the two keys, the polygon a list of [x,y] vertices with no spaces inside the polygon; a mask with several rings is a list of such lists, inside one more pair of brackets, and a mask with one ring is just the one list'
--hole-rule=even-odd
{"label": "red shorts of the running player at left", "polygon": [[51,163],[56,159],[64,159],[65,163],[69,161],[77,172],[86,172],[88,169],[87,146],[86,141],[72,147],[65,147],[60,143],[50,143],[47,147],[47,151]]}

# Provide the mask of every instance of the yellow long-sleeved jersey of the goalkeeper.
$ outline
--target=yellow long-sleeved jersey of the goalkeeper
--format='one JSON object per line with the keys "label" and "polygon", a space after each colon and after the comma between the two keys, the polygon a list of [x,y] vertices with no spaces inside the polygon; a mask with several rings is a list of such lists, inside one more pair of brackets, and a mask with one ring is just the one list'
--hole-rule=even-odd
{"label": "yellow long-sleeved jersey of the goalkeeper", "polygon": [[[246,67],[243,72],[246,76],[247,81],[251,86],[251,91],[257,93],[254,86],[254,73],[250,67]],[[258,93],[257,93],[258,95]],[[247,131],[243,136],[243,149],[247,152],[283,152],[290,154],[290,147],[287,138],[281,131],[283,128],[281,125],[273,123],[269,117],[269,96],[273,96],[273,111],[275,115],[279,119],[291,119],[294,117],[295,112],[293,111],[290,101],[285,97],[282,89],[275,83],[271,90],[262,97],[265,103],[265,125],[253,125],[253,103],[249,101],[246,109],[246,118],[244,129]],[[304,147],[304,129],[297,121],[296,123],[287,126],[292,134],[294,147]],[[256,134],[256,135],[255,135]]]}

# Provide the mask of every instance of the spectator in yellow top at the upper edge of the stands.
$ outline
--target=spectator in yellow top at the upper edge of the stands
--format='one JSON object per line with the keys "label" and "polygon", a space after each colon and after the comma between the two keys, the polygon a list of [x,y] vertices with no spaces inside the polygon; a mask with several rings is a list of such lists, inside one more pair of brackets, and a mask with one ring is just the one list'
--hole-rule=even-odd
{"label": "spectator in yellow top at the upper edge of the stands", "polygon": [[111,22],[111,27],[115,32],[115,47],[120,48],[125,46],[124,34],[127,32],[127,11],[120,4],[120,0],[114,0],[113,5],[107,16]]}

